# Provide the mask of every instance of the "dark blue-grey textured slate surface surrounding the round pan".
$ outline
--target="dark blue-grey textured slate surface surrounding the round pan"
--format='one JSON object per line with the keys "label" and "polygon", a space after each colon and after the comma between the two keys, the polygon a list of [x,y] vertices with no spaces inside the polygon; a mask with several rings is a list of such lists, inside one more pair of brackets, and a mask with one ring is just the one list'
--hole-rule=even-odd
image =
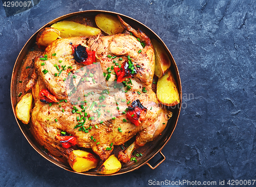
{"label": "dark blue-grey textured slate surface surrounding the round pan", "polygon": [[[228,180],[256,179],[254,0],[41,0],[34,1],[23,12],[4,9],[3,2],[0,2],[1,186],[150,186],[148,180],[217,181],[217,184],[224,180],[225,186],[230,186]],[[178,65],[183,108],[177,128],[162,150],[166,160],[155,170],[143,166],[111,177],[68,172],[41,157],[14,119],[11,74],[26,41],[54,18],[95,9],[122,13],[150,27],[165,42]]]}

